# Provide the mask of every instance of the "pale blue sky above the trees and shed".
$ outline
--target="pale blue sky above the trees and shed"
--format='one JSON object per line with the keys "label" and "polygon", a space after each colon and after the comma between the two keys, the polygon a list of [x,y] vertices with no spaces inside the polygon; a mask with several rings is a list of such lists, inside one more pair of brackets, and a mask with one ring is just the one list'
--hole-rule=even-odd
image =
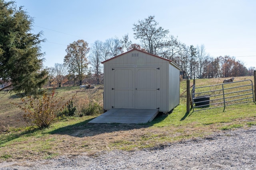
{"label": "pale blue sky above the trees and shed", "polygon": [[211,57],[235,57],[256,67],[255,0],[16,0],[43,31],[44,66],[63,63],[67,45],[84,39],[122,38],[138,20],[155,16],[158,26],[187,46],[204,45]]}

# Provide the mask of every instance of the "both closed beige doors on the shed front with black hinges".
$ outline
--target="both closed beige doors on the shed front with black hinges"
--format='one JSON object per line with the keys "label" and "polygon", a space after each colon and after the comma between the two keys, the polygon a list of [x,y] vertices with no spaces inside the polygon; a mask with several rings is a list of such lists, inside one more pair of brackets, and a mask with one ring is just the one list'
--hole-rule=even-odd
{"label": "both closed beige doors on the shed front with black hinges", "polygon": [[112,68],[112,107],[159,109],[160,68]]}

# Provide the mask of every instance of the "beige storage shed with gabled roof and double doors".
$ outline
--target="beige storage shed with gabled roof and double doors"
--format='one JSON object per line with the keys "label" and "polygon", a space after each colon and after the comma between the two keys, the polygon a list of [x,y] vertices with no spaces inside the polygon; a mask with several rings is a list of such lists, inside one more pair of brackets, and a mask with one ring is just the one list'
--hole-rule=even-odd
{"label": "beige storage shed with gabled roof and double doors", "polygon": [[158,109],[180,103],[180,67],[171,60],[133,49],[104,64],[103,107]]}

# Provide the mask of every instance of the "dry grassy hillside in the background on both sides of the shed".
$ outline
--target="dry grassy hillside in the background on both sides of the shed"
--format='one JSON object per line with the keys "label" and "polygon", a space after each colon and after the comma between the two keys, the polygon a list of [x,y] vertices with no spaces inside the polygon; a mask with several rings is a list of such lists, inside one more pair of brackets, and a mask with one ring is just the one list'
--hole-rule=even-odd
{"label": "dry grassy hillside in the background on both sides of the shed", "polygon": [[[252,80],[254,83],[253,76],[246,77],[236,77],[235,81],[240,80]],[[212,84],[220,84],[224,78],[211,78],[211,79],[196,79],[196,87],[208,86]],[[190,85],[192,85],[193,80],[190,80]],[[51,90],[51,89],[49,89]],[[65,99],[70,99],[74,94],[76,98],[74,100],[74,106],[82,107],[83,104],[88,104],[90,100],[98,102],[100,106],[103,107],[103,86],[96,86],[94,89],[80,89],[79,86],[75,87],[60,87],[56,88],[57,96],[65,96]],[[184,93],[185,92],[185,93]],[[180,82],[180,104],[186,104],[186,80]],[[20,97],[16,94],[6,93],[4,91],[0,92],[1,107],[0,107],[0,125],[5,127],[22,127],[27,124],[23,120],[24,111],[20,110],[11,102],[22,104]]]}

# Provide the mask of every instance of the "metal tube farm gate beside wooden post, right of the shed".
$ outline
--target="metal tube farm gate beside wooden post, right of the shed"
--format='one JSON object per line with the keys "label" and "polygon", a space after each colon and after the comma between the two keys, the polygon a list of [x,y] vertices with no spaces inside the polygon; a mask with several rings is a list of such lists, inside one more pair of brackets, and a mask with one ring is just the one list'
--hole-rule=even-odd
{"label": "metal tube farm gate beside wooden post, right of the shed", "polygon": [[191,96],[193,111],[217,107],[224,107],[224,111],[226,106],[246,102],[255,103],[252,80],[193,87]]}

